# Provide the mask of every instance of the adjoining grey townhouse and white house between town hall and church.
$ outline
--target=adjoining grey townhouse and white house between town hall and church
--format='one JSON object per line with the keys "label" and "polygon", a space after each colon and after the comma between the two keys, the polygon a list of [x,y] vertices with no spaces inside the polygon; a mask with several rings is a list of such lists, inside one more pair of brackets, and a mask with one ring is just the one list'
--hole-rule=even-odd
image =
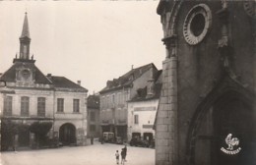
{"label": "adjoining grey townhouse and white house between town hall and church", "polygon": [[99,91],[101,132],[114,133],[125,141],[154,139],[160,86],[161,71],[153,63],[107,81]]}

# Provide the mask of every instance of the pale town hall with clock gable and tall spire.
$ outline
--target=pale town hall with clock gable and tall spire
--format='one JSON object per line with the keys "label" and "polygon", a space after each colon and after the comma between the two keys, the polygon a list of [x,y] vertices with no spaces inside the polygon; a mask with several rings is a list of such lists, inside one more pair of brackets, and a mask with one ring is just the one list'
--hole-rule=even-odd
{"label": "pale town hall with clock gable and tall spire", "polygon": [[1,149],[51,144],[84,145],[88,90],[64,77],[45,76],[30,55],[26,13],[20,54],[0,76]]}

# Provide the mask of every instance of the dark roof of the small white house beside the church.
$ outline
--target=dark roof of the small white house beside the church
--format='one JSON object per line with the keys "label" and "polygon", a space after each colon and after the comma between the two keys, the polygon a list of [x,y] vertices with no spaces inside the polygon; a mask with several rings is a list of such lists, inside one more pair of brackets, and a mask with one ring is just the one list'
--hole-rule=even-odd
{"label": "dark roof of the small white house beside the church", "polygon": [[155,76],[155,94],[147,97],[147,85],[143,88],[137,89],[137,94],[129,101],[129,102],[136,102],[136,101],[145,101],[149,99],[156,99],[160,98],[160,90],[161,90],[161,79],[162,79],[162,70],[160,70]]}

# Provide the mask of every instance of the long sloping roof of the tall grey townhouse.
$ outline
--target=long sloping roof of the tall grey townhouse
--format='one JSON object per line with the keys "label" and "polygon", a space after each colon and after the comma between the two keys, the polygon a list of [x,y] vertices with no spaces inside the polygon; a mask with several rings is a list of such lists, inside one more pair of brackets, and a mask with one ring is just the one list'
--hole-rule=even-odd
{"label": "long sloping roof of the tall grey townhouse", "polygon": [[147,64],[145,66],[132,69],[131,71],[127,72],[123,76],[119,77],[118,79],[114,79],[112,81],[107,81],[107,85],[99,91],[99,93],[108,91],[109,89],[115,89],[118,87],[126,86],[132,84],[136,79],[141,77],[145,72],[151,69],[151,67],[156,66],[153,63]]}

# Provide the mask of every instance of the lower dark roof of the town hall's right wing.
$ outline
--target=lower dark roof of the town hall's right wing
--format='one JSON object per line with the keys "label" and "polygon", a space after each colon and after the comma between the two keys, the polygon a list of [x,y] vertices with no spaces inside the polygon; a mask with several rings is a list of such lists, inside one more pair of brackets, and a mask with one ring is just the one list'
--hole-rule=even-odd
{"label": "lower dark roof of the town hall's right wing", "polygon": [[48,79],[52,82],[55,88],[73,88],[73,89],[82,89],[84,91],[88,91],[88,89],[82,87],[77,83],[73,83],[65,77],[56,77],[51,76]]}

